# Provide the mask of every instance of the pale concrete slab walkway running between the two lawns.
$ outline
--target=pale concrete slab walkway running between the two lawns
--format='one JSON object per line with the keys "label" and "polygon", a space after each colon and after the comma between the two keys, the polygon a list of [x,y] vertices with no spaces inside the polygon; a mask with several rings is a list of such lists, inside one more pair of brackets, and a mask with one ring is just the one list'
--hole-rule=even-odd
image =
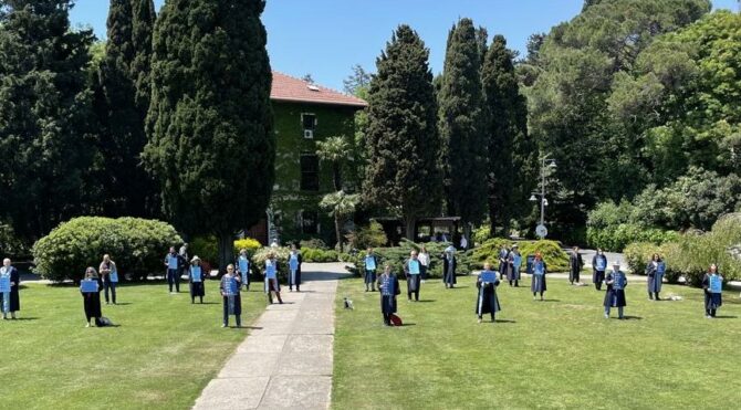
{"label": "pale concrete slab walkway running between the two lawns", "polygon": [[301,293],[281,287],[284,303],[268,306],[194,409],[327,409],[344,266],[304,263]]}

